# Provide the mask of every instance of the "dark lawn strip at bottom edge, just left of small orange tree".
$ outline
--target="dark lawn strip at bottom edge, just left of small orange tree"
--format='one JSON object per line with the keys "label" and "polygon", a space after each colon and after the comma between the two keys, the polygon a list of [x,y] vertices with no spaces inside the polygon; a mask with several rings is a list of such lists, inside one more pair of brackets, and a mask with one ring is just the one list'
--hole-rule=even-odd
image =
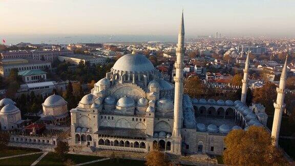
{"label": "dark lawn strip at bottom edge, just left of small orange tree", "polygon": [[143,166],[144,161],[139,160],[129,160],[129,159],[110,159],[99,161],[91,164],[87,164],[86,166],[95,166],[95,165],[103,165],[103,166]]}

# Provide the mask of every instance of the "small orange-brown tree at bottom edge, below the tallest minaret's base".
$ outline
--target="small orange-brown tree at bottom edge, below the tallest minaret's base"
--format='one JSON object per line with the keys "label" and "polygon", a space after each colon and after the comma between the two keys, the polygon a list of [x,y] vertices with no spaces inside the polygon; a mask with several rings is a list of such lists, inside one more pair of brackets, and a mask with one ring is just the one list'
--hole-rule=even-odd
{"label": "small orange-brown tree at bottom edge, below the tallest minaret's base", "polygon": [[171,165],[167,156],[157,150],[153,150],[146,155],[145,165],[147,166],[168,166]]}

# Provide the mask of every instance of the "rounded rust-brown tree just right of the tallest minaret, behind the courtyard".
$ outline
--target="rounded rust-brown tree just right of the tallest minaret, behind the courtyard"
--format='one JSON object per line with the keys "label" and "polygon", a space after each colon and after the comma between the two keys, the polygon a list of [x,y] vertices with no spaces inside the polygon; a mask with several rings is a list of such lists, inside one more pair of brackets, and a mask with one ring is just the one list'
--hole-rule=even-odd
{"label": "rounded rust-brown tree just right of the tallest minaret, behind the courtyard", "polygon": [[198,76],[188,77],[184,81],[184,93],[192,98],[200,98],[205,94],[205,85]]}

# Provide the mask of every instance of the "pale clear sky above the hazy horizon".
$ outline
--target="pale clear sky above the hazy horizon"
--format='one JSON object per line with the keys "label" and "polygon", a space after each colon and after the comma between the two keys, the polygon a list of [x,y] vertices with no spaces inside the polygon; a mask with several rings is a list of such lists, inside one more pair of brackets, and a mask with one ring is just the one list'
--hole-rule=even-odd
{"label": "pale clear sky above the hazy horizon", "polygon": [[295,36],[295,0],[0,0],[0,35]]}

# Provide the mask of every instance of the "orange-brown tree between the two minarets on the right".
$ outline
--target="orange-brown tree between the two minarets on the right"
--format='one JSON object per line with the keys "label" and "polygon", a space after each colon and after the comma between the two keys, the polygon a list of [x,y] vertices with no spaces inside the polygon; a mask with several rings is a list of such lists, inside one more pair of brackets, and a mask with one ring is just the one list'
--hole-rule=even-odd
{"label": "orange-brown tree between the two minarets on the right", "polygon": [[253,101],[256,103],[262,103],[268,115],[273,114],[275,111],[273,108],[273,102],[277,97],[276,89],[277,86],[275,84],[266,82],[261,88],[256,88],[253,91]]}

